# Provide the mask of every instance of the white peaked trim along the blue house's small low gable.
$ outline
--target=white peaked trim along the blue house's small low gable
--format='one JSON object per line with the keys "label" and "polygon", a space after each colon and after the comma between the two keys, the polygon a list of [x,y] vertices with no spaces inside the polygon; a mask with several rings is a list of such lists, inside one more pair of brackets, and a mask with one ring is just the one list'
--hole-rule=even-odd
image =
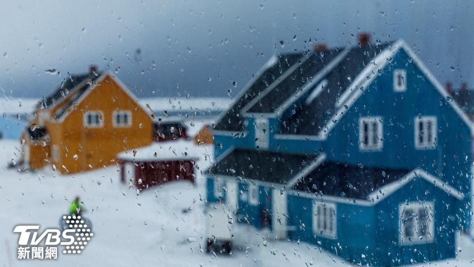
{"label": "white peaked trim along the blue house's small low gable", "polygon": [[388,196],[392,195],[398,189],[405,186],[407,183],[409,183],[413,179],[418,178],[418,177],[424,178],[428,182],[435,185],[435,187],[440,188],[441,190],[445,191],[446,193],[454,196],[455,198],[457,198],[459,200],[464,199],[463,193],[459,192],[458,190],[456,190],[451,185],[449,185],[447,183],[444,183],[441,179],[439,179],[439,178],[437,178],[433,175],[430,175],[428,172],[426,172],[425,170],[422,170],[422,169],[415,169],[415,170],[411,171],[410,173],[408,173],[407,175],[405,175],[403,178],[401,178],[397,181],[391,182],[387,185],[382,186],[377,191],[370,193],[367,196],[367,199],[370,200],[370,201],[373,201],[374,204],[377,204],[380,201],[387,198]]}

